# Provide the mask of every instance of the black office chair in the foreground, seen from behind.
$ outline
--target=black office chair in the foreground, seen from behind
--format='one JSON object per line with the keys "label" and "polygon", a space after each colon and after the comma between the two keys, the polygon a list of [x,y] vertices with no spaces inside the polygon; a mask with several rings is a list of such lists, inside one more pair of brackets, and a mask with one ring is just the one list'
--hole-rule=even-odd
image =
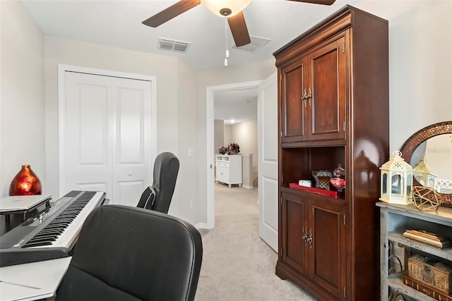
{"label": "black office chair in the foreground, seen from behind", "polygon": [[98,207],[83,223],[56,300],[194,300],[202,256],[201,235],[181,219]]}

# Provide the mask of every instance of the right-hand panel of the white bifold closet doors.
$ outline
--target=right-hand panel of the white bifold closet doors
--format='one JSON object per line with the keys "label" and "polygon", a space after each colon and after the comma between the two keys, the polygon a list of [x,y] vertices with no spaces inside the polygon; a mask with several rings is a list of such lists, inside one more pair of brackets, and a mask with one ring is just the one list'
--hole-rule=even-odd
{"label": "right-hand panel of the white bifold closet doors", "polygon": [[151,182],[150,82],[112,78],[114,204],[136,206]]}

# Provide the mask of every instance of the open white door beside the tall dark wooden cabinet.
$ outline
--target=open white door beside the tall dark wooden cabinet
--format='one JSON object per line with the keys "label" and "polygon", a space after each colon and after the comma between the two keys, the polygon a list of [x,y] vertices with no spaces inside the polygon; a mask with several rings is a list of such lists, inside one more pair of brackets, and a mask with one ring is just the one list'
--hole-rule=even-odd
{"label": "open white door beside the tall dark wooden cabinet", "polygon": [[278,252],[278,84],[273,73],[258,87],[259,236]]}

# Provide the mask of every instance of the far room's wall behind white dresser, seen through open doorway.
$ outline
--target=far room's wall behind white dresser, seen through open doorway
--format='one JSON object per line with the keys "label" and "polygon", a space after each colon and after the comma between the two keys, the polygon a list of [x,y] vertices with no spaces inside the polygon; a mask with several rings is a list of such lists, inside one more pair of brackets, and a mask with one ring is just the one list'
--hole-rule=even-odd
{"label": "far room's wall behind white dresser, seen through open doorway", "polygon": [[230,142],[240,146],[240,154],[253,154],[252,180],[257,178],[257,119],[231,125]]}

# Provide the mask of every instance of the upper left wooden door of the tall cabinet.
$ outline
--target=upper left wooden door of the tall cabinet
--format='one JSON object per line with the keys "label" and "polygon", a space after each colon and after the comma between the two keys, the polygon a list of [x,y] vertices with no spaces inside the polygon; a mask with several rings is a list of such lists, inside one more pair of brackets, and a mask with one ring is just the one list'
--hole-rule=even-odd
{"label": "upper left wooden door of the tall cabinet", "polygon": [[302,86],[305,80],[306,59],[281,69],[280,81],[280,126],[282,142],[307,140],[306,110],[302,99]]}

